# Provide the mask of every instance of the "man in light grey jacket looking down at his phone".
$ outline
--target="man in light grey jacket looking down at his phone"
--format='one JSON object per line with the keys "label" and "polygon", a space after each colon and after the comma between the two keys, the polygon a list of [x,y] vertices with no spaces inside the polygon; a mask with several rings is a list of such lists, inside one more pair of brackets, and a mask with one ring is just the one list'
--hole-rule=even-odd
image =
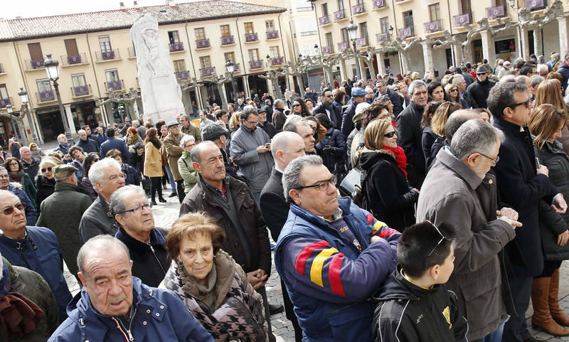
{"label": "man in light grey jacket looking down at his phone", "polygon": [[239,170],[249,178],[249,187],[259,204],[262,187],[269,180],[275,161],[270,153],[271,139],[262,129],[257,129],[259,116],[252,106],[241,112],[241,125],[231,137],[230,155]]}

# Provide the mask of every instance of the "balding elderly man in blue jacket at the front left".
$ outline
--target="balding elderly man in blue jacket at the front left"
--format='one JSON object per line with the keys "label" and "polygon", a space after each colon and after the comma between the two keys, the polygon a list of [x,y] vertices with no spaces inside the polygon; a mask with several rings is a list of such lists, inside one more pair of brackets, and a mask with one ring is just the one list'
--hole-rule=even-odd
{"label": "balding elderly man in blue jacket at the front left", "polygon": [[174,292],[132,277],[127,247],[115,237],[93,237],[77,260],[83,289],[49,342],[213,342]]}

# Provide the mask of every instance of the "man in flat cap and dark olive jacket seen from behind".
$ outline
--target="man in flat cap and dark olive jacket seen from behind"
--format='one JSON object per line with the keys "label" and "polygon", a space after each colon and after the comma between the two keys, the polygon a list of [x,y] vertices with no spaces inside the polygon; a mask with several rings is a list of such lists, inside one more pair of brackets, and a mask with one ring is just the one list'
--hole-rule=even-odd
{"label": "man in flat cap and dark olive jacket seen from behind", "polygon": [[81,247],[79,223],[92,201],[87,191],[77,185],[75,167],[70,164],[53,168],[55,191],[41,203],[36,225],[46,227],[55,233],[61,246],[63,260],[71,274],[77,274],[77,253]]}

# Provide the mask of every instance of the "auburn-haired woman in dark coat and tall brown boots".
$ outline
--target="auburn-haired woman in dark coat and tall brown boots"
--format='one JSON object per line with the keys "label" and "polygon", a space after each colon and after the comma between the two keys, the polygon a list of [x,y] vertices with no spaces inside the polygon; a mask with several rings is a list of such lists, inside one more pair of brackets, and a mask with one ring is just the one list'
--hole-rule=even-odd
{"label": "auburn-haired woman in dark coat and tall brown boots", "polygon": [[[540,86],[541,87],[541,86]],[[549,181],[563,196],[569,196],[569,156],[560,141],[561,129],[567,123],[567,110],[553,105],[540,105],[533,109],[528,127],[533,145],[542,165],[549,169]],[[559,307],[559,267],[569,260],[569,213],[558,214],[541,201],[539,205],[541,245],[545,254],[543,272],[533,278],[531,324],[555,336],[569,335],[569,317]]]}

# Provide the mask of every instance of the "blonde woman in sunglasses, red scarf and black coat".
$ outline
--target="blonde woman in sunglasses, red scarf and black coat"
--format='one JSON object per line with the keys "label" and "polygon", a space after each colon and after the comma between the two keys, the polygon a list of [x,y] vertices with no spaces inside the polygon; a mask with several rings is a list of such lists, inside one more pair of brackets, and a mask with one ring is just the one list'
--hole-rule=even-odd
{"label": "blonde woman in sunglasses, red scarf and black coat", "polygon": [[362,188],[370,211],[390,228],[403,232],[415,223],[413,206],[419,191],[407,181],[407,157],[397,146],[397,132],[388,119],[374,119],[363,134],[366,147],[361,150],[360,166],[366,173]]}

